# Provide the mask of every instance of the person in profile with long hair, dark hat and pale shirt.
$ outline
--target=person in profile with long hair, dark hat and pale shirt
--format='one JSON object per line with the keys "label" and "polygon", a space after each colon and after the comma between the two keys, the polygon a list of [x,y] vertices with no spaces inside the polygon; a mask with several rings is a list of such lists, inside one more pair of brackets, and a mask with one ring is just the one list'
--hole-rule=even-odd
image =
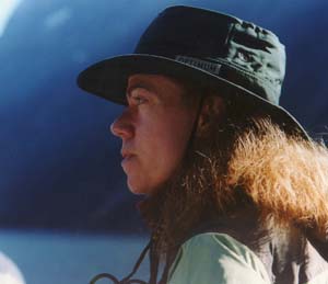
{"label": "person in profile with long hair, dark hat and pale shirt", "polygon": [[161,270],[171,284],[328,282],[328,154],[278,105],[284,60],[265,29],[173,7],[133,55],[80,75],[127,105],[112,132],[129,189],[147,196],[149,283]]}

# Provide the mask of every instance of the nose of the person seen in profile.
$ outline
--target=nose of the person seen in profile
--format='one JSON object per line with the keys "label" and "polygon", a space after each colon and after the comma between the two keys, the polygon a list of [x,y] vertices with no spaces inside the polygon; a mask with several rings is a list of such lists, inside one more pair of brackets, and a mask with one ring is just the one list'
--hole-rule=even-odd
{"label": "nose of the person seen in profile", "polygon": [[127,110],[110,124],[110,132],[122,140],[133,136],[133,125]]}

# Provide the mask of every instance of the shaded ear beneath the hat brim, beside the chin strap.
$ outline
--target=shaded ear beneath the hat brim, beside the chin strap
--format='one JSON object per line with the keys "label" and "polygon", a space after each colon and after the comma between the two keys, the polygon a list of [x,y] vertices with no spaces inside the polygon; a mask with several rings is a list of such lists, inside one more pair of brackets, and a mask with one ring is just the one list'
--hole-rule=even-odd
{"label": "shaded ear beneath the hat brim, beside the chin strap", "polygon": [[208,136],[211,125],[218,124],[225,115],[224,101],[219,95],[204,98],[203,105],[198,117],[197,136]]}

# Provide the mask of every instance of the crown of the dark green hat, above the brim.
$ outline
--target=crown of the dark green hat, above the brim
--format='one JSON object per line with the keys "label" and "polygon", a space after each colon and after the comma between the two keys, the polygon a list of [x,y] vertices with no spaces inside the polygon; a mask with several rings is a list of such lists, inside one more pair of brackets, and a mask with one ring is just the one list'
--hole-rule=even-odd
{"label": "crown of the dark green hat, above the brim", "polygon": [[238,18],[191,7],[167,8],[145,30],[134,53],[190,65],[279,104],[284,46],[272,32]]}

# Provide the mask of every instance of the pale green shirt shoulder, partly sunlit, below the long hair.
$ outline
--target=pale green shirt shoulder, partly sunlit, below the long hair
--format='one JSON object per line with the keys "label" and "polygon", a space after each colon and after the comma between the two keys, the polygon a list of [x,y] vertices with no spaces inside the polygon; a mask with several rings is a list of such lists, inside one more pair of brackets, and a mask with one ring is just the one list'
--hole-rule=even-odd
{"label": "pale green shirt shoulder, partly sunlit, below the long hair", "polygon": [[177,253],[168,284],[270,284],[261,260],[226,234],[206,232],[187,240]]}

